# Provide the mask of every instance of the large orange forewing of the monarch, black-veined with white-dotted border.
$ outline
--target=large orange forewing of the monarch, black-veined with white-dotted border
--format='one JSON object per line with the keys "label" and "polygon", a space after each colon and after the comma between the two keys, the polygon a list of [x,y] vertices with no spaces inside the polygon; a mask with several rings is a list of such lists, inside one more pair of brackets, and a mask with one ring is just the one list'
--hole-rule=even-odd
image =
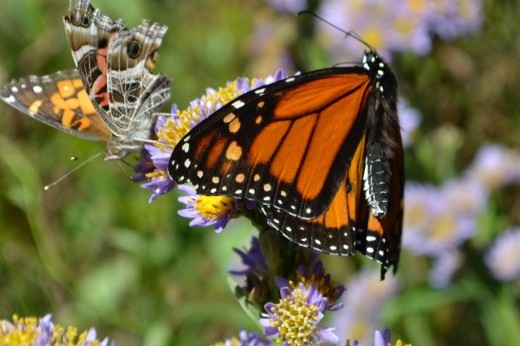
{"label": "large orange forewing of the monarch, black-veined with white-dotted border", "polygon": [[247,93],[202,121],[174,149],[171,177],[200,194],[307,219],[323,214],[363,135],[371,81],[355,67],[304,76]]}

